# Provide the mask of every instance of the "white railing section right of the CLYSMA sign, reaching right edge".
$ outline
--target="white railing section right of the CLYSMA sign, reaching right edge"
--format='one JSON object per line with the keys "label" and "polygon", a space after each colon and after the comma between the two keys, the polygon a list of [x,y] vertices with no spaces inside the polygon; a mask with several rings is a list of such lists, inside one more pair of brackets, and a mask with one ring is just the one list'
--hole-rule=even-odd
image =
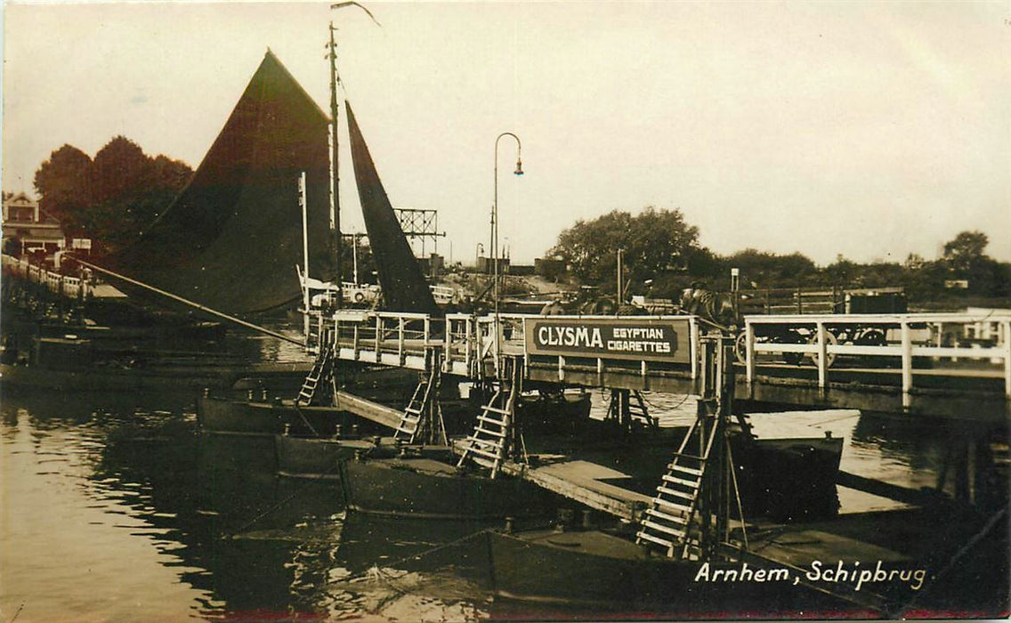
{"label": "white railing section right of the CLYSMA sign, reaching right edge", "polygon": [[[998,337],[988,344],[966,345],[953,337],[964,333],[951,332],[981,322],[997,323]],[[945,328],[948,331],[945,331]],[[854,330],[874,330],[874,344],[840,343],[837,335]],[[858,356],[868,365],[882,363],[880,358],[899,358],[902,363],[902,392],[909,404],[913,387],[913,359],[929,357],[946,361],[989,360],[1003,363],[1004,392],[1011,397],[1011,313],[979,314],[867,314],[810,316],[748,316],[744,319],[743,359],[748,383],[755,380],[758,356],[796,353],[809,357],[818,369],[818,386],[829,382],[829,368],[838,355]],[[779,341],[776,341],[779,340]],[[858,342],[859,340],[857,340]],[[877,358],[877,359],[876,359]],[[870,370],[875,371],[874,369]],[[885,371],[884,369],[882,370]],[[934,375],[966,375],[957,367],[936,367]],[[972,375],[972,372],[969,372]],[[980,374],[983,375],[983,374]]]}

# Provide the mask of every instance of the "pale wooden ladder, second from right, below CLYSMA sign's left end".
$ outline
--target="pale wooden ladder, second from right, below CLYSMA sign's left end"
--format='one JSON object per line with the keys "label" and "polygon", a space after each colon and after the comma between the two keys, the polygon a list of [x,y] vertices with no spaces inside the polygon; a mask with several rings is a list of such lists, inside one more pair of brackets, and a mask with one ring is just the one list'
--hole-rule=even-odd
{"label": "pale wooden ladder, second from right, below CLYSMA sign's left end", "polygon": [[463,452],[457,463],[463,466],[469,459],[490,469],[492,478],[498,474],[509,452],[516,403],[521,391],[519,362],[512,357],[503,358],[502,362],[502,377],[508,380],[499,381],[491,398],[481,409],[473,432],[462,444]]}

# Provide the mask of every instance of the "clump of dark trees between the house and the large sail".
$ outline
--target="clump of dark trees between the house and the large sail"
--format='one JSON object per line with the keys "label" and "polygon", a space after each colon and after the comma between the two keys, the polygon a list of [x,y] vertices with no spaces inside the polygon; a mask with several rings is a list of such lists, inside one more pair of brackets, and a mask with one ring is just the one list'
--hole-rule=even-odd
{"label": "clump of dark trees between the house and the large sail", "polygon": [[133,243],[186,185],[193,171],[166,156],[152,158],[115,137],[94,160],[64,145],[35,171],[39,206],[71,235],[94,240],[99,252]]}

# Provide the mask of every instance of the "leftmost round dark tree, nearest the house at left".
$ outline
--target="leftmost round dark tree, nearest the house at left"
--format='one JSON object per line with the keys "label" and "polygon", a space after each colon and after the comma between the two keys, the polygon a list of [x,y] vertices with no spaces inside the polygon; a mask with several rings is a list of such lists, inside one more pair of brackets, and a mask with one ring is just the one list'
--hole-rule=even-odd
{"label": "leftmost round dark tree, nearest the house at left", "polygon": [[50,155],[35,171],[38,206],[67,224],[94,201],[91,191],[91,158],[71,145]]}

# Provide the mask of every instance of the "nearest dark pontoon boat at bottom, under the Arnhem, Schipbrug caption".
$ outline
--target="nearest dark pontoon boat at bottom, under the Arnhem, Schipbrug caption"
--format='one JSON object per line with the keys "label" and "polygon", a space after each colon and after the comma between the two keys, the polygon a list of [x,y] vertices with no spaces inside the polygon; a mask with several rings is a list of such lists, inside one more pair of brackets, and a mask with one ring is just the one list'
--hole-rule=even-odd
{"label": "nearest dark pontoon boat at bottom, under the Arnhem, Schipbrug caption", "polygon": [[[775,537],[767,544],[761,537],[752,539],[752,549],[775,550],[776,559],[751,555],[729,543],[718,546],[718,553],[707,560],[671,558],[636,544],[631,528],[488,531],[492,591],[517,602],[565,604],[598,615],[609,612],[608,618],[639,618],[642,613],[665,620],[782,618],[798,612],[812,618],[832,618],[840,612],[874,617],[889,612],[895,596],[885,598],[867,587],[854,592],[850,585],[810,582],[806,571],[825,554],[818,548],[843,549],[849,555],[862,552],[861,559],[882,560],[889,568],[908,564],[895,552],[813,530],[798,532],[796,539],[810,543],[799,549],[783,549]],[[774,534],[783,538],[782,530]],[[854,604],[860,610],[854,612]]]}

